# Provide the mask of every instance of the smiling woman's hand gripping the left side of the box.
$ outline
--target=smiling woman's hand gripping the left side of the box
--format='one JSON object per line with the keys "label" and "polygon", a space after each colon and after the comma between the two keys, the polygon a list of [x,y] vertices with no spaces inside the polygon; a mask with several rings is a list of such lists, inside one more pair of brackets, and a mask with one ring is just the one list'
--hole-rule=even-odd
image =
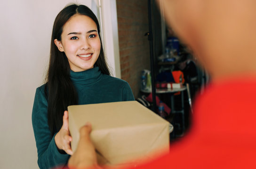
{"label": "smiling woman's hand gripping the left side of the box", "polygon": [[55,135],[55,143],[59,150],[64,150],[66,154],[72,155],[72,149],[70,142],[72,137],[68,129],[68,111],[64,111],[63,115],[63,125],[59,132]]}

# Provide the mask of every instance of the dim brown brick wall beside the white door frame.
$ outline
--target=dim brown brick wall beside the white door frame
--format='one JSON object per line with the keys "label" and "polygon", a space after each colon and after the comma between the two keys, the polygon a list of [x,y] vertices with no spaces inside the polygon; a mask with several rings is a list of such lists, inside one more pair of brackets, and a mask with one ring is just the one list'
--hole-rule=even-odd
{"label": "dim brown brick wall beside the white door frame", "polygon": [[147,0],[116,0],[121,78],[127,81],[134,97],[139,96],[140,76],[150,70]]}

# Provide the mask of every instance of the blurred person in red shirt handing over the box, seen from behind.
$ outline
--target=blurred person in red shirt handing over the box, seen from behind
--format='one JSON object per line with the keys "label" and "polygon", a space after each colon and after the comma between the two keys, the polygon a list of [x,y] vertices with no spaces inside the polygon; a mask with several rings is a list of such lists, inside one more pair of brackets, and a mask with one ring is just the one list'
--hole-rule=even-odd
{"label": "blurred person in red shirt handing over the box, seen from behind", "polygon": [[[256,1],[158,3],[167,23],[211,75],[211,83],[196,99],[188,134],[171,145],[168,155],[136,168],[256,169]],[[69,166],[97,167],[90,130],[90,125],[82,128],[86,141],[80,142]]]}

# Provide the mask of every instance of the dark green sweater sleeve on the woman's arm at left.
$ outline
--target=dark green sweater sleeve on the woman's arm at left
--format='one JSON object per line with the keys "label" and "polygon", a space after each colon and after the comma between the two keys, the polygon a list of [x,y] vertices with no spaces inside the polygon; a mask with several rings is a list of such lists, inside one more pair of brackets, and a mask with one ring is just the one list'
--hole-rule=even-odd
{"label": "dark green sweater sleeve on the woman's arm at left", "polygon": [[32,109],[32,126],[36,140],[38,153],[38,166],[40,169],[50,169],[56,166],[64,166],[68,154],[60,154],[56,143],[55,135],[52,137],[48,127],[47,118],[48,102],[44,94],[44,87],[39,87],[35,93]]}

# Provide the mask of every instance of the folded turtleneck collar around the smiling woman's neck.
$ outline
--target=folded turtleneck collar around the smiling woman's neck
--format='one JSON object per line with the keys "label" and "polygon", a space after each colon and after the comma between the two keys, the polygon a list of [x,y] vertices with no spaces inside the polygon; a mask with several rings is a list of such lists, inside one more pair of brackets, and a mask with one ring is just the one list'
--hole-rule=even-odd
{"label": "folded turtleneck collar around the smiling woman's neck", "polygon": [[99,67],[84,70],[81,72],[74,72],[70,70],[70,78],[74,84],[93,84],[102,77]]}

